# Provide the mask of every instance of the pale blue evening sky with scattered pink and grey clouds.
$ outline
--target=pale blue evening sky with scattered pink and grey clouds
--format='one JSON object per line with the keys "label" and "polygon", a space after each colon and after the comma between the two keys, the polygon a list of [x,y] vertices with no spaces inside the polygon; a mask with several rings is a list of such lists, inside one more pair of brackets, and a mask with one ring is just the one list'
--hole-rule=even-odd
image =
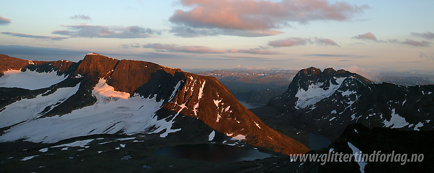
{"label": "pale blue evening sky with scattered pink and grey clouds", "polygon": [[0,1],[0,53],[200,70],[434,70],[434,1]]}

